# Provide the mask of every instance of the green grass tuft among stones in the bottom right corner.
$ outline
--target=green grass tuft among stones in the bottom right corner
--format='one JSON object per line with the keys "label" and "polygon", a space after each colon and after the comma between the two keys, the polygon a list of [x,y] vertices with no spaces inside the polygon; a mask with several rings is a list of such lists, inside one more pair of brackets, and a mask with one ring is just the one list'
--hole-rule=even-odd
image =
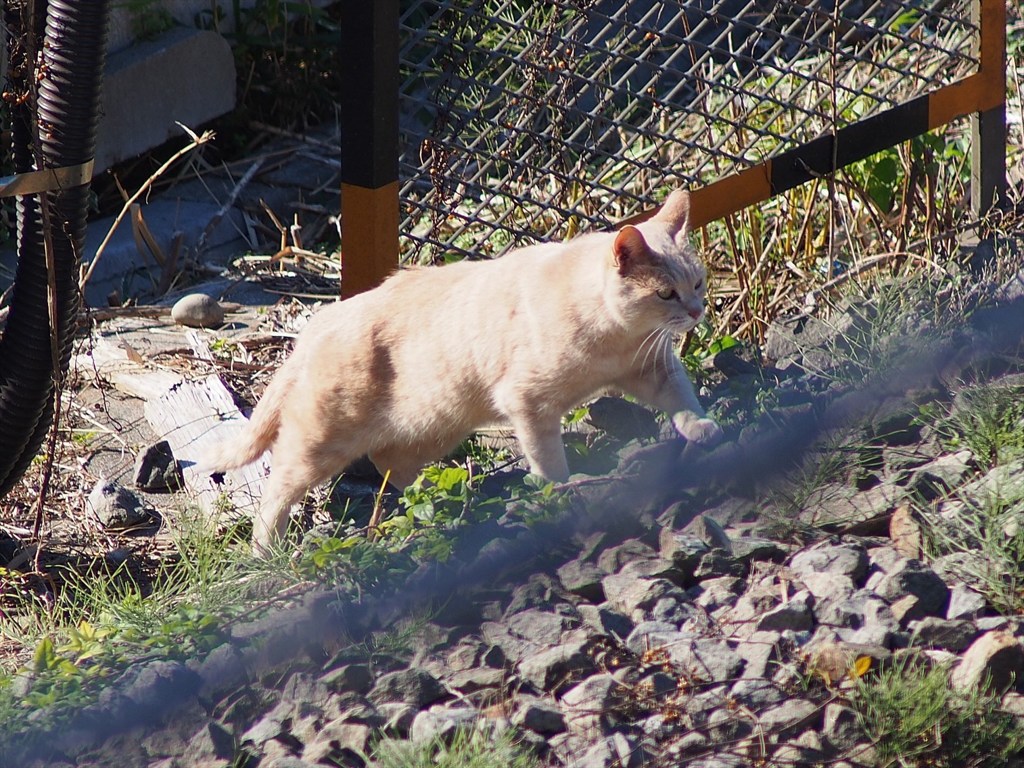
{"label": "green grass tuft among stones in the bottom right corner", "polygon": [[1024,754],[1024,729],[999,694],[954,690],[945,665],[899,656],[858,678],[850,703],[883,767],[999,768]]}

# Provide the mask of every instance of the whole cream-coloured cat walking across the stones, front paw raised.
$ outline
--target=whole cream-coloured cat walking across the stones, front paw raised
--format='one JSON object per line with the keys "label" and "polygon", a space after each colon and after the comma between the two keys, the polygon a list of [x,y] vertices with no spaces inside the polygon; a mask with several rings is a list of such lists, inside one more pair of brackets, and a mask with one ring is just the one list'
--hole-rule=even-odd
{"label": "whole cream-coloured cat walking across the stones, front paw raised", "polygon": [[511,424],[530,470],[564,480],[561,418],[605,389],[669,413],[689,440],[718,440],[671,344],[705,312],[688,220],[677,190],[637,226],[402,269],[319,310],[242,437],[204,461],[224,470],[271,450],[254,550],[284,535],[309,487],[360,456],[404,487],[485,424]]}

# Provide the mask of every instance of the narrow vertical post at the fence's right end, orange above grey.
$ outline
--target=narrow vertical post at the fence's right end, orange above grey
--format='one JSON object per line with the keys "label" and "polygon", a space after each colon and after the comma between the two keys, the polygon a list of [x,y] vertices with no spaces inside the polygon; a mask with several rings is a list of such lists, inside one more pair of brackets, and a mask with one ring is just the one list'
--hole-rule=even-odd
{"label": "narrow vertical post at the fence's right end, orange above grey", "polygon": [[974,0],[979,74],[988,109],[971,115],[971,211],[981,218],[1007,204],[1007,7],[1005,0]]}

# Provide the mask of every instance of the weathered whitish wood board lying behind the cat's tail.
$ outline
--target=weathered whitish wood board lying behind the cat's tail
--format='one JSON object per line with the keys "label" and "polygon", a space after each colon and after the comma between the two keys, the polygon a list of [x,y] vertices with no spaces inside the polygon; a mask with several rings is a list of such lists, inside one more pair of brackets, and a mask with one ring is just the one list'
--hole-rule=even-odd
{"label": "weathered whitish wood board lying behind the cat's tail", "polygon": [[218,376],[181,381],[161,396],[146,399],[144,413],[154,431],[170,444],[181,464],[185,489],[204,512],[234,519],[255,511],[269,454],[248,467],[224,472],[219,483],[198,470],[209,445],[232,439],[248,421]]}

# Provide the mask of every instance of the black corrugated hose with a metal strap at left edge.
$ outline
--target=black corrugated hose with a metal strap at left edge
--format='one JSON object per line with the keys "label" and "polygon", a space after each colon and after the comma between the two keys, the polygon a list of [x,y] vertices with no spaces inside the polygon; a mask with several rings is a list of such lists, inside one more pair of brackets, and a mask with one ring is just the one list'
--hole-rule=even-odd
{"label": "black corrugated hose with a metal strap at left edge", "polygon": [[[35,68],[26,67],[29,27],[42,38],[38,68],[38,121],[43,168],[88,162],[95,155],[96,124],[103,57],[106,51],[108,0],[36,0],[4,2],[8,31],[8,94],[30,86]],[[20,58],[19,58],[20,56]],[[31,99],[12,106],[14,170],[37,170]],[[85,244],[88,183],[47,193],[50,240],[56,278],[57,338],[60,375],[68,371],[80,295],[78,267]],[[17,271],[7,326],[0,339],[0,496],[20,478],[53,421],[53,358],[47,305],[47,270],[40,197],[17,199]]]}

